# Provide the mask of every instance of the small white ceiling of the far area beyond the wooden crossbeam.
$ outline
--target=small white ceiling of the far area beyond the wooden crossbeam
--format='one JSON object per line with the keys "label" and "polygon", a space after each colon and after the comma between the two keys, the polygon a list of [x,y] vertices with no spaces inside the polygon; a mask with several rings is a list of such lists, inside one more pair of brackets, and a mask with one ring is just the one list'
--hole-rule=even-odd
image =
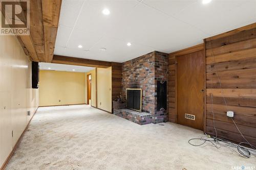
{"label": "small white ceiling of the far area beyond the wooden crossbeam", "polygon": [[88,72],[94,69],[94,67],[84,67],[84,66],[78,66],[78,65],[54,64],[54,63],[39,63],[39,69],[72,71],[72,72]]}

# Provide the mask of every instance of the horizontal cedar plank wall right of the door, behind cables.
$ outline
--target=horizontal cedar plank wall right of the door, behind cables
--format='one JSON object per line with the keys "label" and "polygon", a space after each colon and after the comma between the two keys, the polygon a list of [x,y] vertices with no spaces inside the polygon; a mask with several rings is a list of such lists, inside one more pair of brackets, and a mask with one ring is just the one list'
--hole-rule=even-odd
{"label": "horizontal cedar plank wall right of the door, behind cables", "polygon": [[[245,138],[255,146],[256,23],[206,38],[205,48],[206,133],[215,135],[215,117],[218,136],[245,141],[234,120]],[[228,110],[234,111],[233,120],[226,116]]]}

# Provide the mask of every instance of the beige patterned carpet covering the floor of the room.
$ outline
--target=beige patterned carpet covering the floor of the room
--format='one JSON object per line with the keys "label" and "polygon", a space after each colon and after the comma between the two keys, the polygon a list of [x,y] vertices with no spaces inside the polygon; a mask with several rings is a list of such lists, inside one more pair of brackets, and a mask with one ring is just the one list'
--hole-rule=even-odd
{"label": "beige patterned carpet covering the floor of the room", "polygon": [[[193,147],[202,131],[137,125],[86,106],[39,108],[7,169],[233,169],[256,166],[226,148]],[[255,168],[254,168],[255,169]]]}

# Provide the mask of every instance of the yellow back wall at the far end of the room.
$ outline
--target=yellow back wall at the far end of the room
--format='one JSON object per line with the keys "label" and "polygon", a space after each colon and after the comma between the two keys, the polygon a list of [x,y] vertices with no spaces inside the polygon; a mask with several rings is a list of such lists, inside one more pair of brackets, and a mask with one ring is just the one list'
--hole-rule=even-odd
{"label": "yellow back wall at the far end of the room", "polygon": [[85,82],[83,72],[40,70],[39,106],[84,104]]}

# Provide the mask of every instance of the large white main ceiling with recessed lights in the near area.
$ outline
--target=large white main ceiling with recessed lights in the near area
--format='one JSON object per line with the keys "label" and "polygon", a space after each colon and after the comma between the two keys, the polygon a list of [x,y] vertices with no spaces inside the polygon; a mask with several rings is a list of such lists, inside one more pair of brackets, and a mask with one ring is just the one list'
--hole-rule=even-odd
{"label": "large white main ceiling with recessed lights in the near area", "polygon": [[[103,15],[104,8],[111,14]],[[62,0],[54,54],[124,62],[175,52],[253,22],[256,0]]]}

